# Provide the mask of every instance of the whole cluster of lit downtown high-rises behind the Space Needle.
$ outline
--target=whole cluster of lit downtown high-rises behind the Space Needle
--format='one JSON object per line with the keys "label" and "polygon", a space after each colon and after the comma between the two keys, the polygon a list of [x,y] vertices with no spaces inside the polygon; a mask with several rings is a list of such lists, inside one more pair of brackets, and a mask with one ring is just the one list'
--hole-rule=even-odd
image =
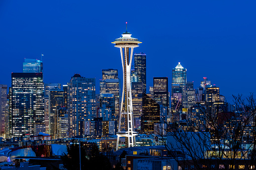
{"label": "whole cluster of lit downtown high-rises behind the Space Needle", "polygon": [[[206,77],[195,89],[180,63],[172,70],[170,91],[168,77],[154,77],[153,87],[146,93],[144,53],[134,54],[130,77],[134,128],[141,134],[154,133],[154,126],[163,122],[199,121],[198,107],[225,103],[219,87]],[[0,85],[0,133],[10,138],[43,132],[55,139],[115,135],[121,84],[117,69],[102,70],[100,94],[96,94],[95,78],[80,74],[74,74],[66,85],[44,83],[43,62],[25,59],[23,73],[12,73],[12,87]]]}

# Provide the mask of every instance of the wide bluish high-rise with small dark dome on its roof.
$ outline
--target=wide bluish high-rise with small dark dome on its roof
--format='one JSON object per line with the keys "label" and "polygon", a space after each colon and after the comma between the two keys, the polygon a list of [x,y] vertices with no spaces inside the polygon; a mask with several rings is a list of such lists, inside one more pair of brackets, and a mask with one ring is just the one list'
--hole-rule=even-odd
{"label": "wide bluish high-rise with small dark dome on its roof", "polygon": [[84,134],[84,121],[96,116],[96,80],[75,74],[68,83],[68,114],[70,118],[70,134]]}

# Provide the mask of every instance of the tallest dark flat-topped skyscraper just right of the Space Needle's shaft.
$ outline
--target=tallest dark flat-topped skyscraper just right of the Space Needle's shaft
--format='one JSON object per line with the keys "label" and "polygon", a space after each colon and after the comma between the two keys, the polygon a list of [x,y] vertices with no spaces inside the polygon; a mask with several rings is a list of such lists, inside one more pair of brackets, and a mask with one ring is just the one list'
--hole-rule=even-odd
{"label": "tallest dark flat-topped skyscraper just right of the Space Needle's shaft", "polygon": [[146,85],[146,54],[134,54],[134,70],[138,74],[139,82],[143,83],[143,93],[147,92]]}

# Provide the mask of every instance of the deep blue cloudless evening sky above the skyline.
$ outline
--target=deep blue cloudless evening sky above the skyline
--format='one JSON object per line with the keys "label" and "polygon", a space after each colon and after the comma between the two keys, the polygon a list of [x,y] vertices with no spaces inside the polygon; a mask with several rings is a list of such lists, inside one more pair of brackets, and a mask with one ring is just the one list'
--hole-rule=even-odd
{"label": "deep blue cloudless evening sky above the skyline", "polygon": [[[147,88],[172,76],[181,62],[188,81],[203,77],[232,94],[255,92],[255,1],[0,1],[0,84],[22,72],[24,58],[44,54],[45,83],[69,82],[74,73],[101,79],[117,68],[111,42],[125,31],[147,54]],[[169,86],[170,87],[170,86]],[[97,88],[99,91],[99,88]]]}

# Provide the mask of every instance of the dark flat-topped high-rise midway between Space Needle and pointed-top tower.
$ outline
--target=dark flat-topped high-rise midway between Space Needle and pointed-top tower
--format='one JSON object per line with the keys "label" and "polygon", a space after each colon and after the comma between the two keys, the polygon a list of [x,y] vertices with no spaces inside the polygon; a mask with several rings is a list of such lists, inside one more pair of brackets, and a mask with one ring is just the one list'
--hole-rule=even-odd
{"label": "dark flat-topped high-rise midway between Space Needle and pointed-top tower", "polygon": [[[168,77],[154,77],[154,101],[161,102],[164,107],[169,107]],[[167,111],[168,113],[168,111]]]}

